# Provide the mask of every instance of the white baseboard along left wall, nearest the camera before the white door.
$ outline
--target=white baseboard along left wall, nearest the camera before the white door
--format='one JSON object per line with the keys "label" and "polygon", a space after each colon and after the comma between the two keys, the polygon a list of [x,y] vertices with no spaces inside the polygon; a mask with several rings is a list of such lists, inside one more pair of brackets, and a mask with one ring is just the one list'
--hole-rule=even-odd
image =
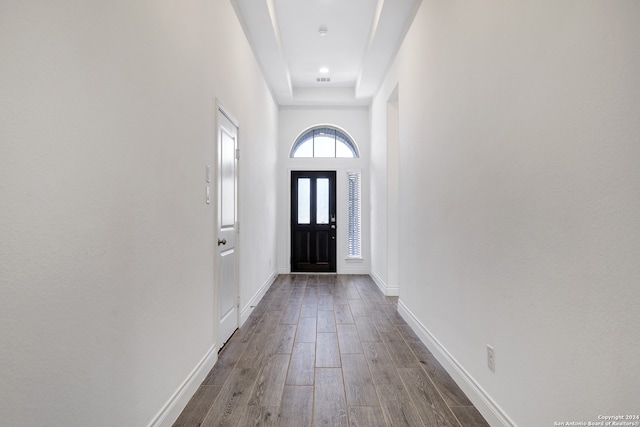
{"label": "white baseboard along left wall, nearest the camera before the white door", "polygon": [[171,427],[217,361],[218,348],[214,344],[178,387],[178,390],[173,393],[169,401],[153,417],[148,427]]}

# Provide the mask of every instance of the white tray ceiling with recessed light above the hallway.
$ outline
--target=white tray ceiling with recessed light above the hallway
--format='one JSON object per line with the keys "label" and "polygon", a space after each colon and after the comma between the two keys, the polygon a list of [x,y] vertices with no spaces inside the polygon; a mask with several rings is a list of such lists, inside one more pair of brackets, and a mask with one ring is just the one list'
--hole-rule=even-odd
{"label": "white tray ceiling with recessed light above the hallway", "polygon": [[231,1],[282,106],[369,105],[421,2]]}

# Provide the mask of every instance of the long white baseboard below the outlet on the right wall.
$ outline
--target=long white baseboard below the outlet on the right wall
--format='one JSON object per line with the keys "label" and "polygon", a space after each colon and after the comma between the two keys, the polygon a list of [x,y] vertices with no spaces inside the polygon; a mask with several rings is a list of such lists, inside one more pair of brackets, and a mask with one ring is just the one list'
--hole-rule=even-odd
{"label": "long white baseboard below the outlet on the right wall", "polygon": [[[375,279],[374,279],[375,280]],[[487,394],[473,377],[458,363],[447,349],[429,332],[429,330],[416,318],[416,316],[401,301],[398,301],[398,313],[411,326],[424,345],[435,356],[451,378],[464,391],[482,416],[492,426],[515,427],[516,424]]]}

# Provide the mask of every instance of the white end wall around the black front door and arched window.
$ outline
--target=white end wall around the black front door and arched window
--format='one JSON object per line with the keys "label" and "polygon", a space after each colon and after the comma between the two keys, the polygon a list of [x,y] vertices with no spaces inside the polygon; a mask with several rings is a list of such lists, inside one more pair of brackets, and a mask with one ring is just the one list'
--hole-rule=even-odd
{"label": "white end wall around the black front door and arched window", "polygon": [[[278,173],[278,271],[291,271],[291,171],[336,170],[338,233],[337,270],[341,274],[368,274],[369,252],[369,110],[366,108],[296,108],[280,109],[279,173]],[[291,159],[291,147],[300,134],[310,127],[330,124],[347,131],[360,150],[358,159]],[[362,260],[347,260],[347,179],[348,170],[362,172]]]}

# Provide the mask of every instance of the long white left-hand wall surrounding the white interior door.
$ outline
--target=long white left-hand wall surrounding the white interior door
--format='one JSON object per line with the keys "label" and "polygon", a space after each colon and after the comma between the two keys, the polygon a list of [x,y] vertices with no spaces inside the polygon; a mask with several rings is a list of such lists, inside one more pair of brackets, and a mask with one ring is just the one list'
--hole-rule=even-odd
{"label": "long white left-hand wall surrounding the white interior door", "polygon": [[2,424],[170,424],[216,355],[217,97],[262,189],[240,199],[243,298],[274,271],[278,112],[233,10],[3,2],[0,63]]}

